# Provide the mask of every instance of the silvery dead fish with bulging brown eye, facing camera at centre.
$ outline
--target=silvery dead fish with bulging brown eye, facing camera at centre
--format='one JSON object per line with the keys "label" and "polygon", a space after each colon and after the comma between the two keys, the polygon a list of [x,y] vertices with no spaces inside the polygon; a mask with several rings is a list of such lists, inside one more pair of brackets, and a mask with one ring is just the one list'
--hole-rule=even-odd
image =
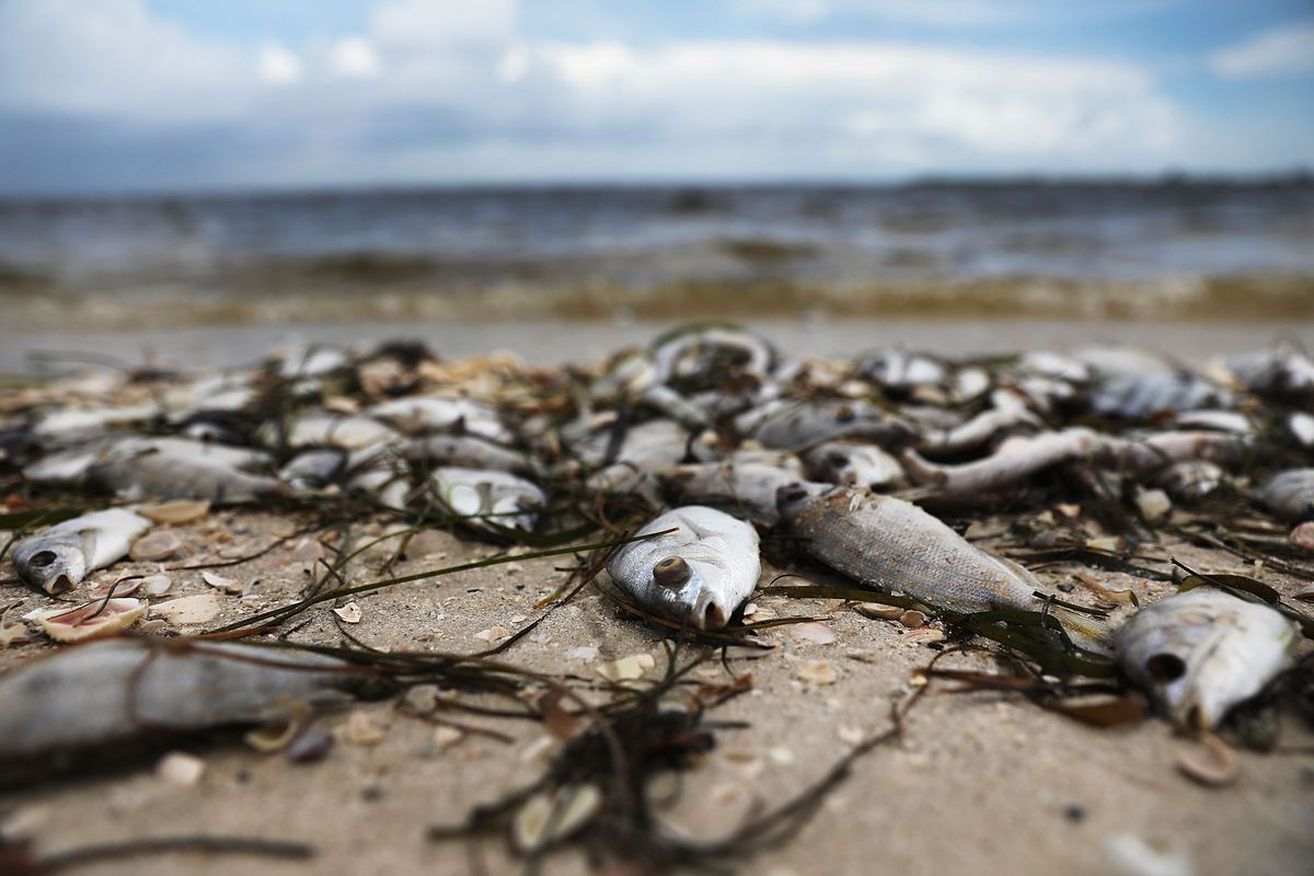
{"label": "silvery dead fish with bulging brown eye, facing camera at centre", "polygon": [[729,623],[762,574],[757,529],[704,506],[658,516],[636,535],[674,528],[616,552],[607,573],[616,586],[654,613],[698,629]]}

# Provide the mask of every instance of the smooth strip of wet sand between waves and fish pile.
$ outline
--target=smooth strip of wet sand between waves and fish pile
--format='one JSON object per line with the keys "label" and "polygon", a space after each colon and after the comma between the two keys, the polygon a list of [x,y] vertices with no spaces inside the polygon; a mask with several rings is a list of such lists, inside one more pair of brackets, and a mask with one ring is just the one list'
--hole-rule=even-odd
{"label": "smooth strip of wet sand between waves and fish pile", "polygon": [[[0,327],[0,373],[22,373],[45,361],[78,364],[109,356],[133,365],[152,362],[187,369],[251,362],[280,344],[369,344],[419,339],[444,359],[494,349],[512,351],[532,364],[595,359],[624,345],[646,344],[678,320],[668,322],[361,322],[213,326],[167,330],[25,331]],[[782,349],[813,356],[848,356],[899,345],[953,356],[1021,349],[1071,349],[1096,344],[1154,349],[1187,364],[1303,341],[1314,348],[1314,323],[1292,320],[1109,322],[1080,319],[770,319],[746,320]],[[49,359],[47,359],[49,357]]]}

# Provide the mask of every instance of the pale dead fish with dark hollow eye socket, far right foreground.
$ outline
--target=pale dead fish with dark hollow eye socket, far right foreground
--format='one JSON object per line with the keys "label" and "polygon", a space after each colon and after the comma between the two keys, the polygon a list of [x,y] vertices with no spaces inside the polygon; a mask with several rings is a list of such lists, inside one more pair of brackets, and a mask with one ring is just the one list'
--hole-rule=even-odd
{"label": "pale dead fish with dark hollow eye socket, far right foreground", "polygon": [[1138,611],[1113,636],[1118,663],[1183,726],[1209,729],[1292,661],[1297,626],[1213,587]]}

